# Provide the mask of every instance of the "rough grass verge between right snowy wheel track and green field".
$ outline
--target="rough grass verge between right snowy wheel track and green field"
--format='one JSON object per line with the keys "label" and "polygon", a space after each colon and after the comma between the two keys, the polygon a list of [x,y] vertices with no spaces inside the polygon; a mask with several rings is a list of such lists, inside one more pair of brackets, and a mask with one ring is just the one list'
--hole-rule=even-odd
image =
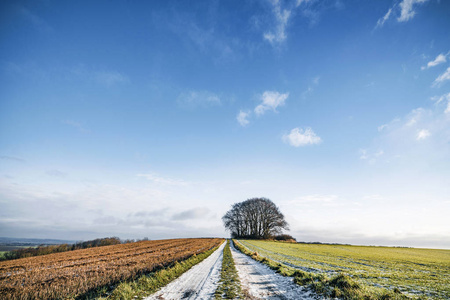
{"label": "rough grass verge between right snowy wheel track and green field", "polygon": [[386,290],[363,286],[345,274],[330,278],[324,274],[301,271],[263,257],[257,252],[252,252],[236,240],[233,240],[233,243],[242,253],[267,265],[283,276],[294,277],[295,283],[308,287],[319,295],[352,300],[421,299],[403,295],[398,289]]}

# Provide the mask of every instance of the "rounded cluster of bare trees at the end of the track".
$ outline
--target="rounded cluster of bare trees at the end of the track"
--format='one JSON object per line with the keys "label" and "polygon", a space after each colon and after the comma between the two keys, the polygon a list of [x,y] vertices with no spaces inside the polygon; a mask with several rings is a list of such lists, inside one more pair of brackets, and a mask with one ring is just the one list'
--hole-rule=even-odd
{"label": "rounded cluster of bare trees at the end of the track", "polygon": [[267,198],[235,203],[222,220],[232,238],[268,239],[289,229],[283,214]]}

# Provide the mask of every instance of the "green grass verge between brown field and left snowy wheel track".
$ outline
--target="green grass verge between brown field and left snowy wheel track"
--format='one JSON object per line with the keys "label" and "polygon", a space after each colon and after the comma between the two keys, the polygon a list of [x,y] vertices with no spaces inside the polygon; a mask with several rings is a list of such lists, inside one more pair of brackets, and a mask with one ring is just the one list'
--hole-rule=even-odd
{"label": "green grass verge between brown field and left snowy wheel track", "polygon": [[[107,288],[103,288],[97,291],[97,295],[91,295],[95,299],[133,299],[133,298],[143,298],[150,296],[159,288],[167,285],[171,281],[180,277],[184,272],[188,271],[190,268],[196,264],[205,260],[214,251],[220,247],[214,247],[203,253],[193,255],[190,258],[175,262],[171,267],[158,270],[156,272],[150,273],[148,275],[143,275],[140,278],[132,282],[122,282],[111,293],[107,292]],[[100,297],[100,295],[107,295]],[[90,297],[88,297],[90,298]],[[92,298],[91,298],[92,299]]]}

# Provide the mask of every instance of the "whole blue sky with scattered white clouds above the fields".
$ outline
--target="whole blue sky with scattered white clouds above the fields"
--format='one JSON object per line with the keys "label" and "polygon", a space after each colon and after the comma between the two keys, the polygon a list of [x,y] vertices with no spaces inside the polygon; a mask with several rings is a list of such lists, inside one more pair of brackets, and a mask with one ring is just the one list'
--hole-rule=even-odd
{"label": "whole blue sky with scattered white clouds above the fields", "polygon": [[450,3],[3,1],[0,236],[450,248]]}

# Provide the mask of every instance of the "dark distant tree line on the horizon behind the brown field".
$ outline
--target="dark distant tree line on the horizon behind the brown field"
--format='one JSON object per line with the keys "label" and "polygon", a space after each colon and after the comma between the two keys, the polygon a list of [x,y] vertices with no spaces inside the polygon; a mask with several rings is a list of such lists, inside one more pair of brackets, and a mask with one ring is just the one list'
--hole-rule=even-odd
{"label": "dark distant tree line on the horizon behind the brown field", "polygon": [[79,249],[93,248],[93,247],[117,245],[117,244],[121,244],[121,241],[118,237],[108,237],[108,238],[95,239],[95,240],[86,241],[86,242],[77,242],[72,245],[69,245],[69,244],[49,245],[49,246],[41,245],[36,248],[21,248],[21,249],[6,252],[3,254],[3,257],[0,258],[0,260],[11,260],[11,259],[18,259],[18,258],[25,258],[25,257],[32,257],[32,256],[47,255],[47,254],[51,254],[51,253],[59,253],[59,252],[73,251],[73,250],[79,250]]}

